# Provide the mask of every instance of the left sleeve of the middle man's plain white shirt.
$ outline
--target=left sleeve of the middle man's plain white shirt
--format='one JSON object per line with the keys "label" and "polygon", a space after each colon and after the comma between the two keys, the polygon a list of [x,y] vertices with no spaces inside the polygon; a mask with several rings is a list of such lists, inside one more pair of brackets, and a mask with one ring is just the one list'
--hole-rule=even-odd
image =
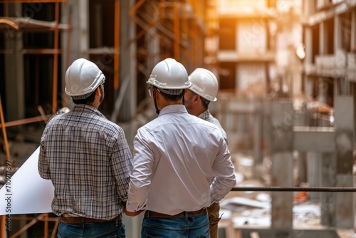
{"label": "left sleeve of the middle man's plain white shirt", "polygon": [[150,192],[154,154],[144,135],[145,133],[139,130],[134,138],[133,170],[126,203],[129,212],[144,209]]}

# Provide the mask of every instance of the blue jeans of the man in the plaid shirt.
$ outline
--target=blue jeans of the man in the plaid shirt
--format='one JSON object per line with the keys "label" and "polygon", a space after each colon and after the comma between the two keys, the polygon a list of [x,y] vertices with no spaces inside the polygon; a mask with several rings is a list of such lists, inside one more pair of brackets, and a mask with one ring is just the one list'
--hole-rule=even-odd
{"label": "blue jeans of the man in the plaid shirt", "polygon": [[122,221],[60,223],[58,238],[125,238],[125,225]]}

